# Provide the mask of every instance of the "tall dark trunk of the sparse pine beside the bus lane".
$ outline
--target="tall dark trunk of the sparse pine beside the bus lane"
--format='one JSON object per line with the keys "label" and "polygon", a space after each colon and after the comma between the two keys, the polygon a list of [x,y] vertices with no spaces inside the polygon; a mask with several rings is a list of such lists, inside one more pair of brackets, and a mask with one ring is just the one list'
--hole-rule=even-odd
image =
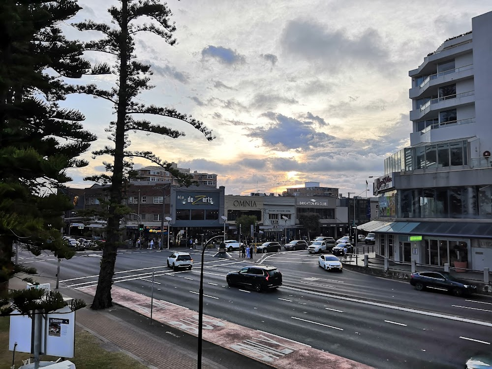
{"label": "tall dark trunk of the sparse pine beside the bus lane", "polygon": [[94,295],[91,308],[94,310],[104,309],[113,306],[111,298],[111,286],[115,272],[116,251],[120,242],[120,215],[116,212],[117,207],[122,202],[123,190],[123,150],[125,118],[127,107],[127,75],[128,75],[128,0],[122,0],[122,21],[120,35],[120,79],[118,92],[118,110],[115,127],[115,162],[113,167],[113,177],[111,180],[110,205],[107,224],[106,245],[101,260],[101,270],[97,282],[97,289]]}

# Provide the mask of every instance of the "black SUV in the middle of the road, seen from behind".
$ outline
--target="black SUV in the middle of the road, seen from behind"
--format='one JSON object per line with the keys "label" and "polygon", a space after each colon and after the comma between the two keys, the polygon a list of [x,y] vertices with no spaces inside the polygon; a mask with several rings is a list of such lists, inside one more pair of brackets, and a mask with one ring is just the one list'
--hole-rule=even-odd
{"label": "black SUV in the middle of the road, seen from behind", "polygon": [[238,272],[227,273],[227,284],[251,286],[256,292],[278,288],[282,285],[282,274],[269,265],[247,266]]}

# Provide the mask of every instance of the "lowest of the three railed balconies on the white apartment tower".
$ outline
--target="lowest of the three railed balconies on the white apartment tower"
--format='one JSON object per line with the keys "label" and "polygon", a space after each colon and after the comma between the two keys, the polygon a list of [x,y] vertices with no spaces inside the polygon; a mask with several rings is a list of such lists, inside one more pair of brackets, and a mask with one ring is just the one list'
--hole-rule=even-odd
{"label": "lowest of the three railed balconies on the white apartment tower", "polygon": [[467,137],[474,131],[475,118],[461,119],[460,121],[431,124],[418,132],[410,133],[410,145],[422,142],[437,142]]}

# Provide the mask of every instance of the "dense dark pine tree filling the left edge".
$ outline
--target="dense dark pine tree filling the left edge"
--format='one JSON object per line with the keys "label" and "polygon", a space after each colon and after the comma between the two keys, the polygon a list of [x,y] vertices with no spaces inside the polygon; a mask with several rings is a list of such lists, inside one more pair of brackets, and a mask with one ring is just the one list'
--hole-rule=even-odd
{"label": "dense dark pine tree filling the left edge", "polygon": [[[43,250],[53,251],[58,258],[74,254],[60,235],[61,215],[73,204],[56,188],[71,181],[68,168],[88,164],[79,155],[89,150],[96,137],[83,128],[80,112],[60,107],[59,101],[69,92],[63,77],[108,71],[104,64],[91,68],[83,58],[81,44],[62,34],[60,23],[80,9],[75,0],[0,1],[2,306],[14,297],[5,293],[15,273],[35,274],[33,268],[13,264],[14,243],[34,255]],[[20,311],[40,304],[34,301],[34,292],[19,292],[19,296],[24,296],[16,303]],[[46,306],[49,302],[49,308],[66,305],[55,295],[47,298],[41,302]],[[6,307],[0,313],[8,311]]]}

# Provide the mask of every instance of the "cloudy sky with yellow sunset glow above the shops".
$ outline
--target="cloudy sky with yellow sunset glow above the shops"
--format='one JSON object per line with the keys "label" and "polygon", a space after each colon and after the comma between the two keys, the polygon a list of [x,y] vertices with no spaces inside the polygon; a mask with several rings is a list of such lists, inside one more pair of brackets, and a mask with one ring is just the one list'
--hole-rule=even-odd
{"label": "cloudy sky with yellow sunset glow above the shops", "polygon": [[[79,0],[83,8],[62,27],[68,38],[96,31],[69,24],[110,22],[111,0]],[[135,39],[137,60],[152,65],[146,104],[191,114],[213,131],[207,141],[188,123],[145,117],[185,132],[172,139],[130,132],[131,150],[151,150],[191,172],[217,174],[225,194],[281,194],[319,182],[344,195],[366,195],[366,180],[384,174],[384,159],[410,145],[408,71],[449,37],[471,30],[471,18],[492,10],[488,0],[169,0],[178,43],[149,33]],[[148,20],[143,20],[148,21]],[[86,52],[91,62],[114,63]],[[116,76],[68,82],[115,85]],[[111,145],[110,102],[70,95],[98,136],[91,150]],[[69,186],[87,187],[102,162],[71,169]],[[135,158],[135,168],[152,165]],[[368,192],[370,194],[370,191]]]}

